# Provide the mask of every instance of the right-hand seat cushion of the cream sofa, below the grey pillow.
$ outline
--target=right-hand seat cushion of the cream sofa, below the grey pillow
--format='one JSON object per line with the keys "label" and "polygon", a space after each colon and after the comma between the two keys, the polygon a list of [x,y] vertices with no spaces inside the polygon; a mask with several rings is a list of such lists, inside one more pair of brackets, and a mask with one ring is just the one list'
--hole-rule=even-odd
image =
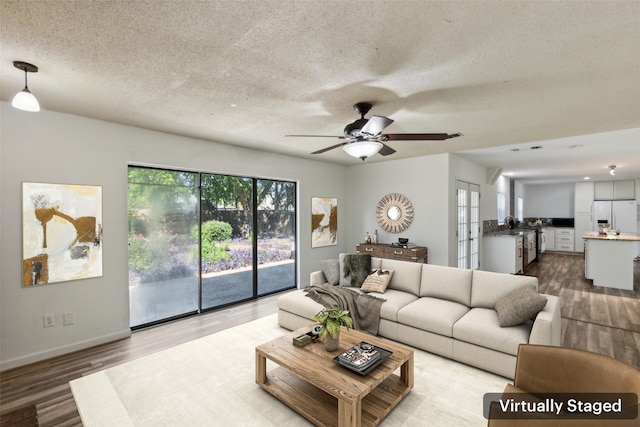
{"label": "right-hand seat cushion of the cream sofa, below the grey pillow", "polygon": [[453,338],[515,356],[518,346],[528,343],[532,324],[502,328],[495,310],[473,308],[453,325]]}

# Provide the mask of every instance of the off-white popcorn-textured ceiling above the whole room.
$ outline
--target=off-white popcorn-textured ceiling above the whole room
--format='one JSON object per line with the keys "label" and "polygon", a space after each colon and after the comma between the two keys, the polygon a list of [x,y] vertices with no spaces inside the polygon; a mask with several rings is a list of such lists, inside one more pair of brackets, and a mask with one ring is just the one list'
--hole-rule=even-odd
{"label": "off-white popcorn-textured ceiling above the whole room", "polygon": [[396,154],[367,162],[633,129],[622,153],[640,168],[637,0],[1,7],[3,101],[23,87],[22,60],[40,68],[29,88],[44,109],[298,157],[360,162],[309,154],[337,139],[284,135],[341,135],[369,101],[395,120],[388,132],[464,136],[389,142]]}

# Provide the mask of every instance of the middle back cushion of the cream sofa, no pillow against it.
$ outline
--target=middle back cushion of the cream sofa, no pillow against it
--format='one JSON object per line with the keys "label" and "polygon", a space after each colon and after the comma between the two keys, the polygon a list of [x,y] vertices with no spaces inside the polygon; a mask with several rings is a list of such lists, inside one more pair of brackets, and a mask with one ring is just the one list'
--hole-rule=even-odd
{"label": "middle back cushion of the cream sofa, no pillow against it", "polygon": [[420,296],[442,298],[469,306],[472,270],[435,264],[422,266]]}

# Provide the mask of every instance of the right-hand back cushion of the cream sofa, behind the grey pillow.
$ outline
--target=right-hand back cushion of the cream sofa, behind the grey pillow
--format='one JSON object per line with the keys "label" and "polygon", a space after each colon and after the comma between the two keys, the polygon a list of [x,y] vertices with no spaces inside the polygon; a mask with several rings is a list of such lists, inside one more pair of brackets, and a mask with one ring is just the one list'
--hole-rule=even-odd
{"label": "right-hand back cushion of the cream sofa, behind the grey pillow", "polygon": [[471,278],[471,307],[493,309],[500,298],[524,286],[529,286],[537,291],[538,278],[473,270]]}

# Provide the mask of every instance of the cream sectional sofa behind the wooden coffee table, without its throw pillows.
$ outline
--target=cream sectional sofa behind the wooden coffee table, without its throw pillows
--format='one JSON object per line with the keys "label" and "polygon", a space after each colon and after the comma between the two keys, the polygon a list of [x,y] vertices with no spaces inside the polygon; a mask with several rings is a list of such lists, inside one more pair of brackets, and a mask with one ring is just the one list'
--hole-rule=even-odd
{"label": "cream sectional sofa behind the wooden coffee table, without its throw pillows", "polygon": [[[515,326],[499,324],[496,303],[502,299],[504,310],[508,298],[503,297],[523,287],[537,294],[535,277],[375,257],[371,268],[394,270],[384,293],[370,293],[386,300],[378,331],[384,338],[511,379],[519,344],[560,345],[556,296],[542,295],[546,305],[533,319]],[[311,285],[326,282],[322,271],[311,273],[310,279]],[[323,308],[303,289],[280,296],[277,305],[278,323],[291,330],[313,323],[313,315]]]}

